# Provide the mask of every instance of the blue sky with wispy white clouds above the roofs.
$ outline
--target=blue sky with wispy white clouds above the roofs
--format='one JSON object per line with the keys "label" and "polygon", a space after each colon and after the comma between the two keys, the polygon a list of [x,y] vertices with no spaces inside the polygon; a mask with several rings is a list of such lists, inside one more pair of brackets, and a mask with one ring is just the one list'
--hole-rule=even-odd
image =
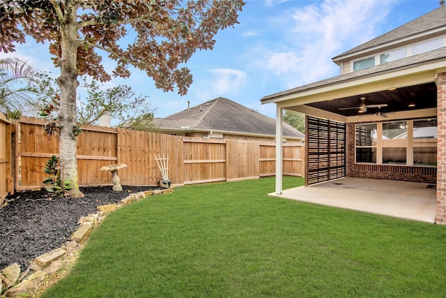
{"label": "blue sky with wispy white clouds above the roofs", "polygon": [[[167,117],[190,105],[219,96],[275,117],[275,105],[261,105],[263,96],[339,75],[332,57],[395,29],[440,6],[438,0],[247,0],[239,22],[215,36],[213,50],[196,52],[187,63],[194,83],[186,96],[155,89],[150,77],[132,70],[129,79],[113,79],[149,96],[155,117]],[[16,52],[37,70],[57,75],[47,45],[31,38]],[[113,64],[106,62],[107,70]],[[82,92],[81,92],[82,94]]]}

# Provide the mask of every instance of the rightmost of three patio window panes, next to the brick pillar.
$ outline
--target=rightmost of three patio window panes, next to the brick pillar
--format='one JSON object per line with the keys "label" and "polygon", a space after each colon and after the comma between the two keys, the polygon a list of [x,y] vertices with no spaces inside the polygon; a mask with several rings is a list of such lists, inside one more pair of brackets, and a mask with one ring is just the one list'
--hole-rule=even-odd
{"label": "rightmost of three patio window panes, next to the brick pillar", "polygon": [[413,164],[437,165],[437,120],[413,121]]}

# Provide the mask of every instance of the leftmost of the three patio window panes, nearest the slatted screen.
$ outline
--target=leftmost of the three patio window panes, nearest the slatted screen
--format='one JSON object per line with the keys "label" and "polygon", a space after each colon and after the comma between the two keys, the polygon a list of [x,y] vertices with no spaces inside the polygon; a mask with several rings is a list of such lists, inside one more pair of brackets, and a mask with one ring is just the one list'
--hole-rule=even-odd
{"label": "leftmost of the three patio window panes, nearest the slatted screen", "polygon": [[355,133],[356,162],[376,163],[376,124],[357,124]]}

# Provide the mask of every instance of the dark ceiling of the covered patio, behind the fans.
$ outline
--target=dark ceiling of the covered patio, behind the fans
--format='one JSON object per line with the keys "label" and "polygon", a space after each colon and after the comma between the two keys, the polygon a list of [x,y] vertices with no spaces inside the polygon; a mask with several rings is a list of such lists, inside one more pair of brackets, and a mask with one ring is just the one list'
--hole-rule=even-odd
{"label": "dark ceiling of the covered patio, behind the fans", "polygon": [[[308,103],[307,105],[319,110],[340,114],[345,117],[374,114],[378,112],[378,107],[368,107],[367,112],[362,113],[359,112],[359,109],[339,110],[345,107],[359,107],[361,103],[360,98],[362,97],[366,98],[366,105],[387,104],[387,107],[380,108],[383,113],[420,110],[437,106],[437,88],[435,82],[401,87],[394,90],[358,94],[357,96],[348,96],[318,103]],[[409,105],[411,106],[409,107]]]}

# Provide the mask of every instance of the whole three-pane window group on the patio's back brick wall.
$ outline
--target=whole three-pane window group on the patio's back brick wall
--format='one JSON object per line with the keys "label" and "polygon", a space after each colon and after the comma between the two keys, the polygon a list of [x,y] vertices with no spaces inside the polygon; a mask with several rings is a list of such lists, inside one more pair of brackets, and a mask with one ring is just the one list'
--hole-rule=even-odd
{"label": "whole three-pane window group on the patio's back brick wall", "polygon": [[356,163],[437,165],[437,120],[355,124]]}

